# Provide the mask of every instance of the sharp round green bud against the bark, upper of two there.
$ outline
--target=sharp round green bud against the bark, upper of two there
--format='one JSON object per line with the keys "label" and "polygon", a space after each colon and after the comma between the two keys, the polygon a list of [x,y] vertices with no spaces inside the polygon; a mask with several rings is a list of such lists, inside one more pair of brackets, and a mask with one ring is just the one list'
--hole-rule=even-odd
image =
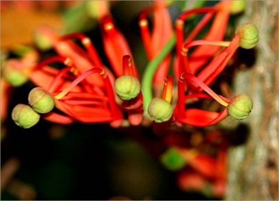
{"label": "sharp round green bud against the bark, upper of two there", "polygon": [[255,47],[259,41],[259,31],[257,30],[255,24],[242,24],[237,27],[235,34],[241,37],[239,46],[244,49],[251,49]]}

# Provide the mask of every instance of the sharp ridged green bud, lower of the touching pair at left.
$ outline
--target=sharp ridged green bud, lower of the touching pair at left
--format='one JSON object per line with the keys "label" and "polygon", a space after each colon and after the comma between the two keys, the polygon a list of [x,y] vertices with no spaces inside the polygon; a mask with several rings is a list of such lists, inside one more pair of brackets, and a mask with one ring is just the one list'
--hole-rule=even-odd
{"label": "sharp ridged green bud, lower of the touching pair at left", "polygon": [[18,104],[13,108],[12,119],[17,126],[30,128],[38,123],[40,114],[32,110],[29,105]]}

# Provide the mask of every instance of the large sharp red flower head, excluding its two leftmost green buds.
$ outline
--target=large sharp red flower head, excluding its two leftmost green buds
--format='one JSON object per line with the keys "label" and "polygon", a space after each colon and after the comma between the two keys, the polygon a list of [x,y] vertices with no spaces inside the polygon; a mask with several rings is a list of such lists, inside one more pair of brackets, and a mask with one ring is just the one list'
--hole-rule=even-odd
{"label": "large sharp red flower head, excluding its two leftmost green buds", "polygon": [[[121,121],[122,112],[116,100],[127,112],[130,124],[139,125],[144,115],[148,115],[156,121],[154,131],[162,131],[157,128],[165,128],[172,121],[192,126],[211,126],[223,120],[228,114],[235,119],[247,117],[252,109],[252,101],[248,96],[224,98],[208,87],[220,75],[238,47],[252,48],[258,40],[256,28],[246,24],[236,30],[232,41],[220,41],[225,34],[231,1],[221,1],[212,8],[195,8],[183,13],[176,20],[176,38],[173,35],[165,2],[156,1],[153,6],[146,8],[140,14],[140,28],[144,47],[151,61],[144,71],[142,86],[126,38],[116,28],[112,15],[106,10],[106,5],[103,6],[104,12],[100,14],[98,20],[105,53],[117,77],[116,80],[114,74],[100,60],[91,40],[84,34],[59,36],[47,28],[42,28],[37,33],[37,38],[43,40],[44,44],[52,45],[59,56],[27,68],[27,75],[32,82],[54,98],[59,110],[68,115],[66,117],[70,119],[61,118],[65,120],[65,124],[72,122],[73,119],[82,122]],[[152,31],[149,31],[146,20],[149,12],[153,12]],[[183,21],[188,16],[198,13],[205,15],[184,40]],[[204,39],[194,40],[214,15],[208,34]],[[84,48],[75,44],[72,39],[80,40]],[[173,110],[171,100],[174,82],[172,77],[166,75],[170,61],[169,53],[175,43],[177,59],[174,68],[175,75],[179,78],[178,101]],[[199,47],[188,58],[188,50],[194,46]],[[225,48],[220,50],[220,46]],[[62,62],[67,67],[58,70],[47,66],[52,62]],[[163,95],[160,96],[157,84],[163,83]],[[153,98],[152,90],[156,98]],[[115,99],[116,94],[122,101]],[[158,98],[159,96],[162,98]],[[223,111],[213,112],[188,108],[188,105],[185,105],[189,99],[200,101],[212,98],[225,106]],[[59,114],[51,112],[43,116],[57,121],[55,115]],[[163,122],[165,122],[163,126],[158,127],[157,124]]]}

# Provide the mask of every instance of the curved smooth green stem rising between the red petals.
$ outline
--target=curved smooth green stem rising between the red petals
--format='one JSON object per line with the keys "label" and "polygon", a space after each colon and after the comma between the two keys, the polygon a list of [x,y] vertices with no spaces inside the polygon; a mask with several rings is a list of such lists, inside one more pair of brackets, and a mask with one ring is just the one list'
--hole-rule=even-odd
{"label": "curved smooth green stem rising between the red petals", "polygon": [[169,54],[176,42],[175,35],[169,39],[167,44],[163,47],[162,51],[147,64],[144,74],[142,75],[142,96],[144,97],[144,112],[147,114],[149,103],[153,99],[152,95],[152,80],[157,67],[163,59]]}

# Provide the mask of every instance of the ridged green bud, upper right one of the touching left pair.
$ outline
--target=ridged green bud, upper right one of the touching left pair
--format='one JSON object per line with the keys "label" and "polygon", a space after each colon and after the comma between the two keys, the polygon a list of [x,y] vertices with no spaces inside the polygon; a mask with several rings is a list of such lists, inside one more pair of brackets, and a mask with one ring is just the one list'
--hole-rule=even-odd
{"label": "ridged green bud, upper right one of the touching left pair", "polygon": [[35,112],[42,114],[52,111],[55,105],[52,96],[40,87],[36,87],[30,91],[28,102]]}

